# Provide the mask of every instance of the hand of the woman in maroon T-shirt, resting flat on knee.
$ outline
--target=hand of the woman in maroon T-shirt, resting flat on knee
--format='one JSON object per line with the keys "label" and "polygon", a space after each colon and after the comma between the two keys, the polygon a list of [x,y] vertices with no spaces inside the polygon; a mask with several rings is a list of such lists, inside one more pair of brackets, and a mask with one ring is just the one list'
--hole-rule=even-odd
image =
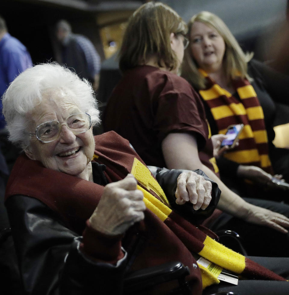
{"label": "hand of the woman in maroon T-shirt, resting flat on knee", "polygon": [[289,228],[289,219],[287,217],[262,207],[251,205],[247,217],[241,218],[251,223],[268,226],[284,234],[288,232],[284,228]]}

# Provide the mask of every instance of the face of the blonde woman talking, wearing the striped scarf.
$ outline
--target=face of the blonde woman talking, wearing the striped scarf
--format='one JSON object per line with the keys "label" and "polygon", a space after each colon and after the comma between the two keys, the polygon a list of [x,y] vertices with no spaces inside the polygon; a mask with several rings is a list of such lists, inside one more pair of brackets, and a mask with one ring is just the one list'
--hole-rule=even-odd
{"label": "face of the blonde woman talking, wearing the striped scarf", "polygon": [[225,41],[222,36],[210,26],[194,22],[190,32],[191,56],[197,65],[207,73],[222,69],[225,54]]}

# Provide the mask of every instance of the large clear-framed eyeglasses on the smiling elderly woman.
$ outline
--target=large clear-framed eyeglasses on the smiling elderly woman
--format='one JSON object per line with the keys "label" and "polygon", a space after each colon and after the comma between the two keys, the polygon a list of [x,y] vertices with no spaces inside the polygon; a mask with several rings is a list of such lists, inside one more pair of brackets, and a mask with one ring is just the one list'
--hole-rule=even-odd
{"label": "large clear-framed eyeglasses on the smiling elderly woman", "polygon": [[62,125],[66,125],[73,134],[80,134],[89,130],[91,118],[87,113],[76,113],[68,116],[62,124],[57,120],[52,120],[38,125],[34,133],[26,133],[35,135],[43,143],[48,143],[59,137]]}

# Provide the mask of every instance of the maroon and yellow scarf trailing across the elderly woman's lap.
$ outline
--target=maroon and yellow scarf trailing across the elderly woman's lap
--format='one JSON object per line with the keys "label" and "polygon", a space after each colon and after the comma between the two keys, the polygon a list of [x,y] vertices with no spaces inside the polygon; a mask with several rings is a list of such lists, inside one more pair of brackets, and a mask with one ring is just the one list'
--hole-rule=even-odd
{"label": "maroon and yellow scarf trailing across the elderly woman's lap", "polygon": [[[131,173],[141,184],[142,179],[146,178],[143,177],[143,175],[148,175],[146,171],[148,171],[148,168],[135,158]],[[141,178],[138,179],[138,176],[141,176]],[[145,185],[147,185],[147,179],[145,182]],[[159,186],[158,183],[157,185]],[[247,261],[249,260],[246,257],[218,243],[203,232],[196,231],[196,227],[192,227],[191,223],[183,218],[180,218],[179,215],[175,214],[175,212],[172,211],[164,202],[155,198],[150,192],[143,189],[141,186],[138,186],[138,189],[141,189],[144,194],[144,203],[146,207],[156,214],[157,217],[159,217],[160,220],[162,220],[178,236],[178,238],[191,252],[198,253],[200,256],[210,260],[218,266],[231,270],[237,274],[248,272],[249,269],[247,267]],[[158,190],[162,191],[160,187]],[[264,275],[263,277],[261,275],[261,278],[268,278],[269,275],[269,277],[273,280],[280,279],[278,275],[275,275],[273,272],[268,273],[267,269],[259,266],[253,261],[251,262],[251,260],[248,265],[252,268],[250,271],[253,270],[257,276],[260,270],[260,274],[263,273]],[[219,283],[219,273],[212,274],[208,269],[202,266],[200,266],[200,269],[203,289],[211,284]]]}

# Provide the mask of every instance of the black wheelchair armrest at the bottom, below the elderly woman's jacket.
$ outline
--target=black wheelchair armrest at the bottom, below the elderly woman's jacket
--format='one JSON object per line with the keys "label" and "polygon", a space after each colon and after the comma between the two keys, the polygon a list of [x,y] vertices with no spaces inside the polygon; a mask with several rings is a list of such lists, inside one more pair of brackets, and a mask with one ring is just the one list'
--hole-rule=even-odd
{"label": "black wheelchair armrest at the bottom, below the elderly woman's jacket", "polygon": [[124,293],[137,292],[154,285],[165,283],[172,280],[179,280],[184,294],[191,294],[185,277],[190,274],[188,266],[181,262],[169,262],[161,265],[141,269],[127,275],[124,279]]}

